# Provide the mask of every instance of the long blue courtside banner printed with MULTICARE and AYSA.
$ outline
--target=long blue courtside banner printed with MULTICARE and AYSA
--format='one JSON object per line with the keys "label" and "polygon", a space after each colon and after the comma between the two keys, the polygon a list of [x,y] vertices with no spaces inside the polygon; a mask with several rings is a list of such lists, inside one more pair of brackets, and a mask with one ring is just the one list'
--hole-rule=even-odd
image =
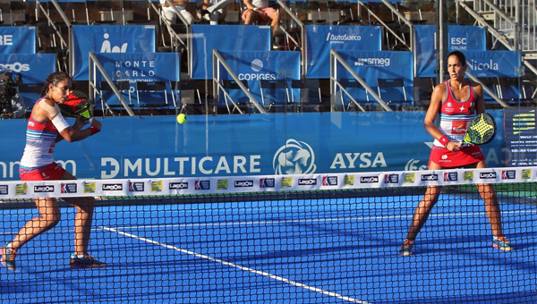
{"label": "long blue courtside banner printed with MULTICARE and AYSA", "polygon": [[[504,119],[482,146],[505,166]],[[432,138],[424,112],[107,117],[97,135],[56,144],[55,160],[79,178],[238,176],[421,170]],[[72,119],[68,119],[72,123]],[[4,120],[0,179],[18,180],[25,120]],[[396,147],[396,148],[394,148]]]}

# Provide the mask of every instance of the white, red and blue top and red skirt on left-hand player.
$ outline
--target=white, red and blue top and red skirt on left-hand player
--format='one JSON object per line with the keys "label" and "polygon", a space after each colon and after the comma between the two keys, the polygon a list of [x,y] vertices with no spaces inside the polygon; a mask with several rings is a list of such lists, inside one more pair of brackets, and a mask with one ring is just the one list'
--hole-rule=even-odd
{"label": "white, red and blue top and red skirt on left-hand player", "polygon": [[[42,100],[38,99],[37,102]],[[19,166],[22,181],[57,180],[64,174],[64,168],[54,162],[57,135],[58,131],[52,122],[38,122],[30,115],[26,127],[26,146]]]}

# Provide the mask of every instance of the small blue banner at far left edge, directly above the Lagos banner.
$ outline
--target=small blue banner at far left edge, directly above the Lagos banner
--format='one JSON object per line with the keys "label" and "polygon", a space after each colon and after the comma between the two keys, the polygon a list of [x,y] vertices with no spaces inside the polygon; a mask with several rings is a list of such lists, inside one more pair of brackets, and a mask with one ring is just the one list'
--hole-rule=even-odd
{"label": "small blue banner at far left edge, directly above the Lagos banner", "polygon": [[35,54],[35,27],[0,27],[0,54]]}

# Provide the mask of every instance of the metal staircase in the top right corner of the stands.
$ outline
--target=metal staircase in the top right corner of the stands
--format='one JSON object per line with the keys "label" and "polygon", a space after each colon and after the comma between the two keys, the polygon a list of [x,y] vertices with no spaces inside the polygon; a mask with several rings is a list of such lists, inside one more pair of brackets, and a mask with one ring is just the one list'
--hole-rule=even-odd
{"label": "metal staircase in the top right corner of the stands", "polygon": [[[492,48],[520,50],[522,64],[537,74],[536,0],[456,0],[457,12],[464,10],[475,23],[487,27]],[[525,69],[524,69],[525,70]],[[524,71],[521,69],[521,76]]]}

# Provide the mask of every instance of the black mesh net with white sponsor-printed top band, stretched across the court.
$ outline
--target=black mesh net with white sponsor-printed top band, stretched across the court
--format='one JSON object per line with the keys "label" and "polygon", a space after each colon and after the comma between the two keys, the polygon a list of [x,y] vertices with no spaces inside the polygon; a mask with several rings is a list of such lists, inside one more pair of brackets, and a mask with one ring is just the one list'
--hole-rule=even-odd
{"label": "black mesh net with white sponsor-printed top band, stretched across the court", "polygon": [[[1,241],[32,198],[97,198],[72,269],[74,209],[0,269],[9,303],[530,303],[537,300],[537,168],[143,180],[0,182]],[[512,251],[492,247],[473,184],[494,184]],[[401,257],[427,185],[439,201]]]}

